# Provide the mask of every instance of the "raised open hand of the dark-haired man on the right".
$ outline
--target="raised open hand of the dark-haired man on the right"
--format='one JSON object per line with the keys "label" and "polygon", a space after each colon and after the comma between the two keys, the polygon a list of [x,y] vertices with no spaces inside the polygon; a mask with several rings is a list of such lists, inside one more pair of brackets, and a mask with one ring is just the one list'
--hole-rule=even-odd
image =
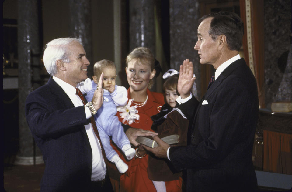
{"label": "raised open hand of the dark-haired man on the right", "polygon": [[196,77],[193,77],[194,68],[193,62],[189,59],[183,61],[183,65],[179,68],[179,80],[177,83],[177,91],[182,99],[187,98],[191,94],[191,89]]}

